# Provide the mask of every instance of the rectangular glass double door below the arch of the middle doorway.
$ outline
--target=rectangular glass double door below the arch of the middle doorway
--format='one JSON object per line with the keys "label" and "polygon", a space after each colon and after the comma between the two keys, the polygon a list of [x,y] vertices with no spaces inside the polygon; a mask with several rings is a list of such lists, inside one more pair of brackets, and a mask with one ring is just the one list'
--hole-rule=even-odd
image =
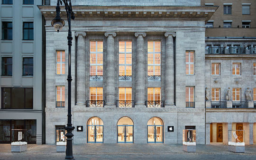
{"label": "rectangular glass double door below the arch of the middle doorway", "polygon": [[133,143],[133,125],[118,125],[118,143]]}

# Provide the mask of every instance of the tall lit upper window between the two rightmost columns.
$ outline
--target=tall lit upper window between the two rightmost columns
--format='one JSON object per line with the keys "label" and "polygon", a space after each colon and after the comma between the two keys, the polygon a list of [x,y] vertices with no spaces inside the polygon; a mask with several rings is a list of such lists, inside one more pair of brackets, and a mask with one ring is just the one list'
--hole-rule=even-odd
{"label": "tall lit upper window between the two rightmost columns", "polygon": [[161,76],[161,42],[147,42],[147,75]]}

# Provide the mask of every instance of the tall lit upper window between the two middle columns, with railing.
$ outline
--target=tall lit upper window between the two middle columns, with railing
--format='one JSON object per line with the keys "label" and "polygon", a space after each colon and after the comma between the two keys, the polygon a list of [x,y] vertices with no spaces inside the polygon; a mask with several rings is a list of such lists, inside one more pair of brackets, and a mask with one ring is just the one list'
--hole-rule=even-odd
{"label": "tall lit upper window between the two middle columns, with railing", "polygon": [[119,42],[119,80],[131,80],[132,42]]}

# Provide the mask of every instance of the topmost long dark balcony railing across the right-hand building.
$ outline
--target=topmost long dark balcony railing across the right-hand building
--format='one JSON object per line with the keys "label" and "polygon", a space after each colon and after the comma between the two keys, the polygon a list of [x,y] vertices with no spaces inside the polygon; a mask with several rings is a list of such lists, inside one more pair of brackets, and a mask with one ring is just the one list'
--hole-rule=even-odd
{"label": "topmost long dark balcony railing across the right-hand building", "polygon": [[256,54],[256,47],[209,47],[205,54]]}

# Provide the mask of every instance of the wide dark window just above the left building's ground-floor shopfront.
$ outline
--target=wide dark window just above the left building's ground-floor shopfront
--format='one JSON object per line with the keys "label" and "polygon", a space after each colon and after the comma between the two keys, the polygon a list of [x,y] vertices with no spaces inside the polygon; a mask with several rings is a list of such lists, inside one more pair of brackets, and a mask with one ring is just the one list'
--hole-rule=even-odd
{"label": "wide dark window just above the left building's ground-floor shopfront", "polygon": [[33,88],[2,88],[2,109],[33,109]]}

